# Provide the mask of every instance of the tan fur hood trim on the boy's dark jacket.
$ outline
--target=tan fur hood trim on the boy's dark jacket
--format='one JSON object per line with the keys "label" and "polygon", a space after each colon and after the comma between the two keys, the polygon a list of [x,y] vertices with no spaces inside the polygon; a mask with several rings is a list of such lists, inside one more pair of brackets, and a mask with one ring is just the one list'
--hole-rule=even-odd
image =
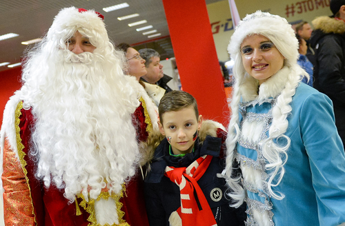
{"label": "tan fur hood trim on the boy's dark jacket", "polygon": [[[217,137],[217,129],[226,131],[224,125],[212,120],[205,120],[202,122],[201,129],[199,130],[199,142],[205,141],[206,136]],[[163,136],[159,131],[149,134],[147,141],[139,143],[139,151],[142,154],[141,165],[149,165],[155,154],[155,150],[158,145],[163,141]],[[148,169],[149,170],[149,169]]]}

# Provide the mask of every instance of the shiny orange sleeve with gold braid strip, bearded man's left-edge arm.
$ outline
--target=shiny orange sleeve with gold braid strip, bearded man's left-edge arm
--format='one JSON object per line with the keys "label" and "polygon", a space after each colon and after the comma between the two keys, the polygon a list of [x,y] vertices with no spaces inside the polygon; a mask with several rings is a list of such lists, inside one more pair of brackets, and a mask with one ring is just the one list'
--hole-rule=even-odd
{"label": "shiny orange sleeve with gold braid strip, bearded man's left-edge arm", "polygon": [[8,141],[5,141],[3,150],[3,213],[6,225],[37,225],[34,216],[34,207],[28,177],[26,174],[23,152],[23,144],[20,138],[19,123],[23,102],[20,101],[15,112],[15,127],[17,134],[17,148],[19,161],[14,152],[11,150]]}

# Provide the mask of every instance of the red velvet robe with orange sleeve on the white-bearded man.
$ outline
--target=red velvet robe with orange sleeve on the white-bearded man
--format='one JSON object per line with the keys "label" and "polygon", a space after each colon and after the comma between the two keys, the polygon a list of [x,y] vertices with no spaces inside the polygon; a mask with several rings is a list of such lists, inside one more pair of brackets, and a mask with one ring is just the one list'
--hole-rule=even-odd
{"label": "red velvet robe with orange sleeve on the white-bearded man", "polygon": [[[6,225],[94,225],[92,223],[95,221],[92,220],[95,219],[88,219],[90,214],[79,205],[83,201],[81,198],[77,198],[77,202],[69,205],[68,199],[63,197],[63,190],[55,186],[47,189],[43,187],[42,181],[35,178],[36,165],[32,156],[28,154],[34,116],[31,110],[24,110],[22,107],[17,108],[16,112],[20,163],[7,142],[3,156],[2,180],[5,189],[3,210]],[[140,140],[145,140],[148,136],[146,131],[148,124],[145,123],[144,112],[145,109],[141,104],[133,114],[133,118],[139,121],[136,127]],[[119,216],[119,225],[121,222],[126,222],[130,226],[148,226],[140,173],[128,182],[120,202],[123,204],[121,211],[124,212],[124,216],[123,220]]]}

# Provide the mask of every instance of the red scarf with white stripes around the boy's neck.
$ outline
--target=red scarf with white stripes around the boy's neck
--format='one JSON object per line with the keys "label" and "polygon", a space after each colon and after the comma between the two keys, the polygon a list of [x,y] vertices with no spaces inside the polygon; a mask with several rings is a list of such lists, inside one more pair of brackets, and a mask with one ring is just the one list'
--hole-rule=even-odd
{"label": "red scarf with white stripes around the boy's neck", "polygon": [[181,196],[181,207],[170,215],[170,225],[177,222],[181,223],[180,225],[217,225],[210,205],[197,184],[210,165],[212,157],[201,156],[188,167],[166,167],[164,175],[179,186]]}

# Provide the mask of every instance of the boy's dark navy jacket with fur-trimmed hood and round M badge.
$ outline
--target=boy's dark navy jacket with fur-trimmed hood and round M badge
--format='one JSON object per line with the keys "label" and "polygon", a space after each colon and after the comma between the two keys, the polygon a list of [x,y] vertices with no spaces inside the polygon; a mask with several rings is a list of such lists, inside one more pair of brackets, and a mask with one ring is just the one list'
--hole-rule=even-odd
{"label": "boy's dark navy jacket with fur-trimmed hood and round M badge", "polygon": [[[217,174],[221,174],[225,166],[226,132],[225,129],[222,130],[221,128],[224,127],[219,123],[204,121],[197,141],[195,141],[194,152],[186,154],[182,158],[169,155],[169,143],[166,138],[159,135],[155,138],[151,136],[146,143],[147,146],[144,147],[148,153],[155,150],[154,156],[150,155],[152,159],[144,185],[150,225],[169,225],[170,214],[181,206],[179,187],[164,176],[166,166],[188,167],[193,161],[205,154],[213,156],[213,159],[204,175],[199,179],[198,184],[213,211],[217,225],[244,225],[244,220],[246,220],[245,207],[239,209],[229,207],[228,197],[225,197],[226,181],[224,178],[217,177]],[[221,189],[221,198],[219,198],[219,189],[217,188]]]}

